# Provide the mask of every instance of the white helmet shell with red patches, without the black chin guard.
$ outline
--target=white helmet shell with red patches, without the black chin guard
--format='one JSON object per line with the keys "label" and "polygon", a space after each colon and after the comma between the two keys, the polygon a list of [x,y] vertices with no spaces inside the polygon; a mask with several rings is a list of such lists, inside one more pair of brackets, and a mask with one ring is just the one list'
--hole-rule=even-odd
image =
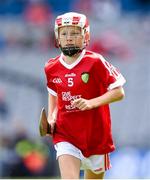
{"label": "white helmet shell with red patches, without the black chin guard", "polygon": [[58,43],[58,29],[63,26],[80,27],[81,33],[85,37],[84,47],[89,44],[90,27],[89,27],[88,19],[86,18],[85,15],[75,13],[75,12],[69,12],[69,13],[65,13],[60,16],[57,16],[57,18],[55,20],[55,28],[54,28],[55,38],[56,38],[57,43]]}

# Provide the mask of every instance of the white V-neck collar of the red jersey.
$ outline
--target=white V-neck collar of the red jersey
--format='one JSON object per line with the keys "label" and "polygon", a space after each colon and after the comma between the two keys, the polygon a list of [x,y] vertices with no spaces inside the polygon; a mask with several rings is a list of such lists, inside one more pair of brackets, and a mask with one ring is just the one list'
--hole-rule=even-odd
{"label": "white V-neck collar of the red jersey", "polygon": [[83,56],[85,55],[85,49],[83,49],[82,53],[80,54],[80,56],[77,58],[77,60],[75,62],[73,62],[72,64],[67,64],[64,60],[63,60],[63,53],[61,53],[61,56],[59,58],[60,63],[65,66],[67,69],[72,69],[74,68],[77,64],[79,64],[79,62],[82,60]]}

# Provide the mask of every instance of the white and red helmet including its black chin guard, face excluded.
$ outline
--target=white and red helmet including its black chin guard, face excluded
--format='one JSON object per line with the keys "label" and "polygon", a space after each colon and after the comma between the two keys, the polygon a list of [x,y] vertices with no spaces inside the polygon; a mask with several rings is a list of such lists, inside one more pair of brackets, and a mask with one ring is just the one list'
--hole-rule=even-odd
{"label": "white and red helmet including its black chin guard, face excluded", "polygon": [[[84,37],[84,44],[82,48],[79,47],[61,47],[58,41],[58,29],[64,26],[77,26],[81,28],[81,34]],[[85,15],[69,12],[63,15],[60,15],[55,20],[55,38],[56,38],[56,46],[60,47],[61,51],[64,55],[73,56],[74,54],[81,52],[88,44],[90,40],[90,28],[89,23]]]}

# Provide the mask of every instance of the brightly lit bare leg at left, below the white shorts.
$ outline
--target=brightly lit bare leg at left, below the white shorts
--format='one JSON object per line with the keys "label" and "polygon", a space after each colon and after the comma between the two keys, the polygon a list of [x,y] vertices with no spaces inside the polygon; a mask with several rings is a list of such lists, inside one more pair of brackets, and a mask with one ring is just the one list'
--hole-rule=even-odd
{"label": "brightly lit bare leg at left, below the white shorts", "polygon": [[64,154],[58,157],[58,163],[62,179],[79,179],[80,159]]}

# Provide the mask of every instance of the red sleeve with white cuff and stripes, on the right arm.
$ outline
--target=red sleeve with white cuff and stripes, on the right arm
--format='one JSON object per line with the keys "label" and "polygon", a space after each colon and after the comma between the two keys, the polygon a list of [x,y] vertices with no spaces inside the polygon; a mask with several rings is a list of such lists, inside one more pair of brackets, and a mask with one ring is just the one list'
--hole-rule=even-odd
{"label": "red sleeve with white cuff and stripes, on the right arm", "polygon": [[98,78],[107,87],[108,90],[123,86],[126,82],[120,71],[104,59],[103,56],[98,55],[96,61],[96,72]]}

